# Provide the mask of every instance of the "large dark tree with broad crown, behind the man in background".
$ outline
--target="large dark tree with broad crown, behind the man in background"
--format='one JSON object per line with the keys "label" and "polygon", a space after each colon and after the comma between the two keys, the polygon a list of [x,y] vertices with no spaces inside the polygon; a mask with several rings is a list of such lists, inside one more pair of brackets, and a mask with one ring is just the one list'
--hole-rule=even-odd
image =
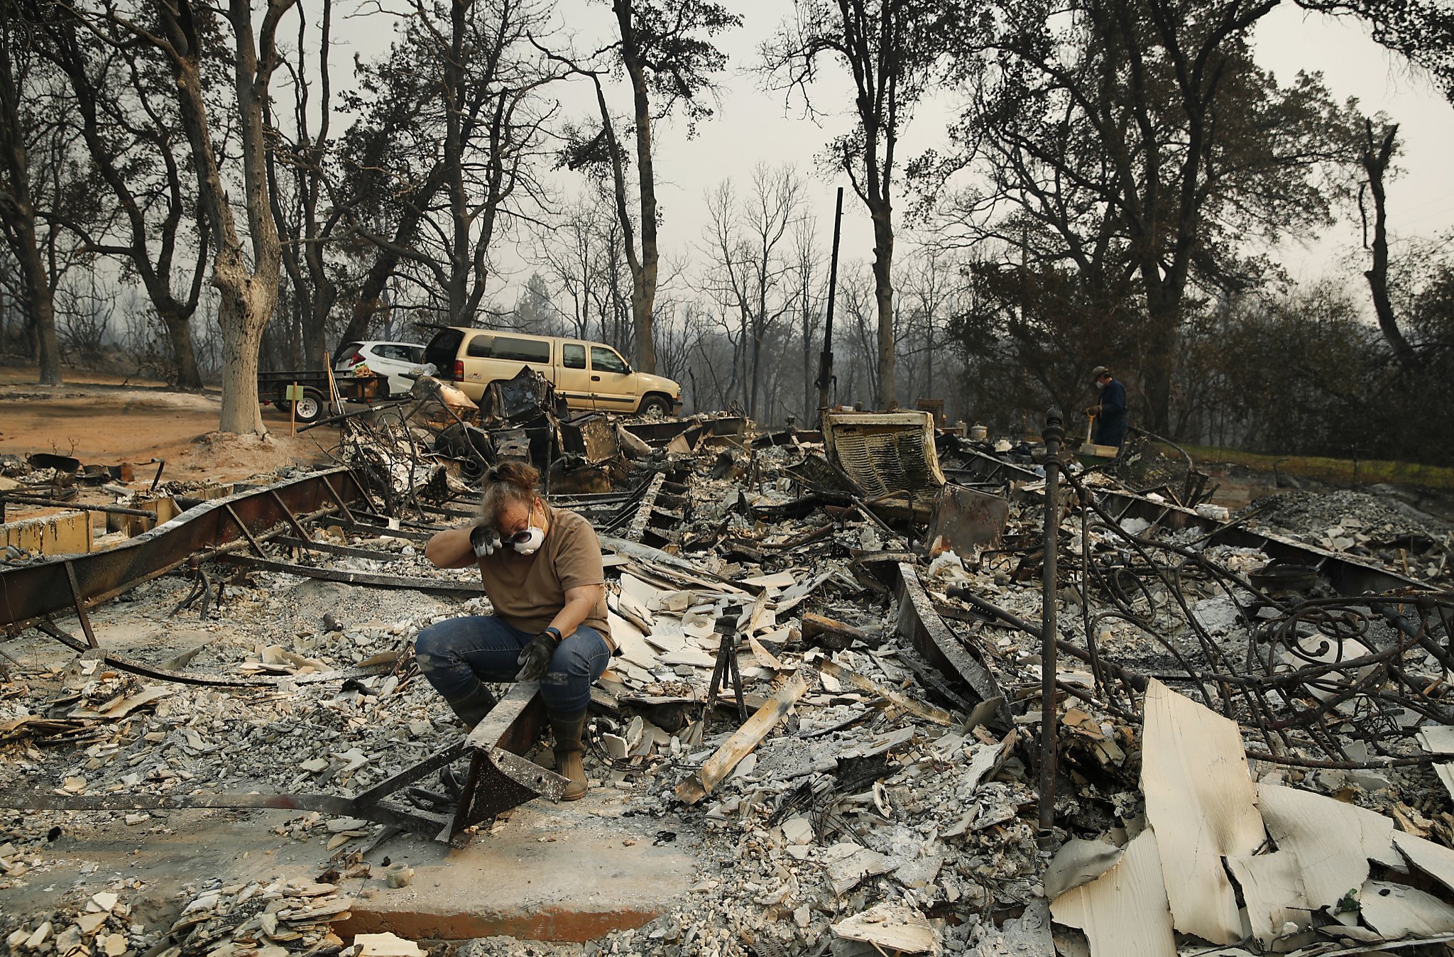
{"label": "large dark tree with broad crown, behind the man in background", "polygon": [[1075,271],[1090,301],[1134,297],[1133,361],[1157,431],[1192,289],[1256,285],[1265,263],[1242,240],[1330,224],[1352,160],[1348,111],[1316,77],[1278,86],[1252,63],[1248,32],[1275,0],[1194,6],[1016,7],[957,129],[990,183],[955,195],[968,239]]}

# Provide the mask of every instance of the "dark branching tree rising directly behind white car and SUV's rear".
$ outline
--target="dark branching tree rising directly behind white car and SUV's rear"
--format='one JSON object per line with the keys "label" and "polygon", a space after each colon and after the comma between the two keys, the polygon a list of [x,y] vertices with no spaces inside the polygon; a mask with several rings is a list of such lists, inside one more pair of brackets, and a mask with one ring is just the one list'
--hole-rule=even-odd
{"label": "dark branching tree rising directly behind white car and SUV's rear", "polygon": [[474,324],[491,244],[544,205],[535,180],[553,76],[529,45],[545,10],[518,0],[419,0],[390,55],[366,67],[349,103],[349,217],[377,249],[348,335],[401,275],[448,324]]}

